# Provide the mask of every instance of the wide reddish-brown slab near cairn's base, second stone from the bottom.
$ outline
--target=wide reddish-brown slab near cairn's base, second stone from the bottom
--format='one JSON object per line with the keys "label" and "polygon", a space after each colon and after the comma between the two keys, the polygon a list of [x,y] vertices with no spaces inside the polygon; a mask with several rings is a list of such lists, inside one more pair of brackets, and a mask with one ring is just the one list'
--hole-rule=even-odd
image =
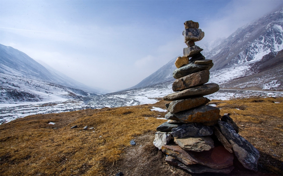
{"label": "wide reddish-brown slab near cairn's base, second stone from the bottom", "polygon": [[185,165],[200,164],[212,169],[222,169],[233,165],[233,154],[223,146],[203,152],[186,151],[179,145],[164,145],[161,149],[162,152],[178,159]]}

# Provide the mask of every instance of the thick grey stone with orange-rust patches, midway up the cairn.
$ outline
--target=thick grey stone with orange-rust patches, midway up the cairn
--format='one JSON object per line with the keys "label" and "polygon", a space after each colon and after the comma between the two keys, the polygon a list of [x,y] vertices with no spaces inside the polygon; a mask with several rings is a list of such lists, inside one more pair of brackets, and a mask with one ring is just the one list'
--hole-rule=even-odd
{"label": "thick grey stone with orange-rust patches, midway up the cairn", "polygon": [[177,113],[168,112],[166,119],[177,120],[182,123],[202,123],[219,119],[220,110],[216,107],[203,105]]}

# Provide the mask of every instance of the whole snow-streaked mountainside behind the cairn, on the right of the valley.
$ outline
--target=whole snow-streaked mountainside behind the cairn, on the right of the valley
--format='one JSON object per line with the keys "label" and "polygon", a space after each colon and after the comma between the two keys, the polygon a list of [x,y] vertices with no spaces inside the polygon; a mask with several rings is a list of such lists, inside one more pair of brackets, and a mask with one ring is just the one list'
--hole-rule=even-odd
{"label": "whole snow-streaked mountainside behind the cairn, on the right of the valley", "polygon": [[[279,57],[268,62],[263,58],[269,53],[277,53],[283,49],[282,19],[283,9],[280,6],[271,13],[238,28],[228,38],[218,38],[201,45],[200,47],[204,49],[201,53],[206,59],[212,59],[214,63],[210,70],[210,81],[225,88],[256,87],[255,89],[283,90],[283,80],[280,77],[282,69],[280,67],[269,69],[269,66],[264,66],[273,62],[279,63]],[[172,72],[176,69],[175,60],[176,58],[172,59],[132,88],[175,80],[172,77]],[[251,64],[253,62],[256,64]],[[244,77],[249,78],[243,79]]]}

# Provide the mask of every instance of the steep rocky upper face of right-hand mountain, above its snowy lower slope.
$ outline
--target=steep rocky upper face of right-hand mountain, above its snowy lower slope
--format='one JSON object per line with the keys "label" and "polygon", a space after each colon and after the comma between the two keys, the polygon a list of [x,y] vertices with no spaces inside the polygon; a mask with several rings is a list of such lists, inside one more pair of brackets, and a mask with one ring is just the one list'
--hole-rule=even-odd
{"label": "steep rocky upper face of right-hand mountain, above its snowy lower slope", "polygon": [[282,6],[251,23],[238,28],[220,45],[207,53],[218,70],[260,60],[264,55],[283,49]]}

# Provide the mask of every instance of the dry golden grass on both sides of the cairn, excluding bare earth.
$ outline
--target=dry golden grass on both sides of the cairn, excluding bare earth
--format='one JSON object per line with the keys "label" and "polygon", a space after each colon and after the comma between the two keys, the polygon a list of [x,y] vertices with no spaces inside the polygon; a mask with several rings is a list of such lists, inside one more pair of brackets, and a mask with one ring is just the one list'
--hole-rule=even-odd
{"label": "dry golden grass on both sides of the cairn, excluding bare earth", "polygon": [[[275,100],[281,103],[273,103]],[[39,114],[2,124],[0,175],[104,175],[104,166],[119,160],[131,139],[144,133],[153,134],[166,121],[156,119],[166,113],[150,111],[152,106],[164,109],[165,103]],[[283,143],[283,98],[211,101],[210,104],[222,108],[221,115],[230,113],[241,128],[240,135],[256,148],[268,153],[268,145],[282,160],[279,145]],[[78,128],[70,129],[74,125]],[[95,129],[83,131],[84,126]],[[272,167],[275,173],[280,173],[276,165],[270,164]]]}

